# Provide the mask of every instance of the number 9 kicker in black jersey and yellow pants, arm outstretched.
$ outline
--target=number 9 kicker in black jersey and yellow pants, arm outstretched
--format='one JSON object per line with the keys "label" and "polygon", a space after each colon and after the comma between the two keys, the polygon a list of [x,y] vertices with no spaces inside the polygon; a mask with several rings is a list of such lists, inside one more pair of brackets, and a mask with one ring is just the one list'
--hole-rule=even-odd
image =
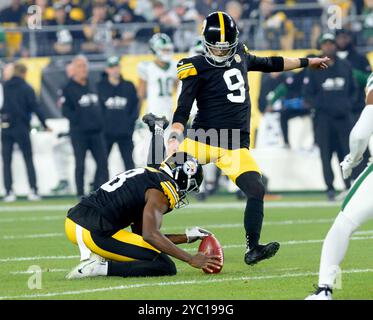
{"label": "number 9 kicker in black jersey and yellow pants, arm outstretched", "polygon": [[[238,33],[235,21],[228,14],[213,12],[206,17],[202,28],[206,53],[178,63],[182,90],[173,117],[168,154],[185,151],[201,164],[215,162],[245,193],[245,262],[253,265],[275,255],[280,245],[277,242],[259,244],[265,190],[259,167],[249,151],[247,72],[279,72],[304,67],[325,69],[329,59],[256,57],[239,42]],[[198,108],[192,125],[194,131],[188,130],[184,139],[184,128],[194,100]],[[201,133],[206,133],[207,137]]]}

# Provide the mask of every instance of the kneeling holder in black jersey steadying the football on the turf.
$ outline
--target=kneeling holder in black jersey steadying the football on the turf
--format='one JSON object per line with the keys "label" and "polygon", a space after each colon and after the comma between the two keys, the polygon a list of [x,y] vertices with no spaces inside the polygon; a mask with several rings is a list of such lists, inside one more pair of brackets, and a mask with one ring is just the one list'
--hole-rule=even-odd
{"label": "kneeling holder in black jersey steadying the football on the turf", "polygon": [[[83,197],[65,220],[66,235],[79,246],[82,261],[66,278],[175,275],[168,255],[195,268],[221,266],[218,256],[191,255],[176,246],[203,239],[208,231],[160,232],[163,215],[186,204],[187,194],[198,191],[202,179],[201,165],[178,152],[159,170],[126,171]],[[132,232],[124,230],[129,226]]]}

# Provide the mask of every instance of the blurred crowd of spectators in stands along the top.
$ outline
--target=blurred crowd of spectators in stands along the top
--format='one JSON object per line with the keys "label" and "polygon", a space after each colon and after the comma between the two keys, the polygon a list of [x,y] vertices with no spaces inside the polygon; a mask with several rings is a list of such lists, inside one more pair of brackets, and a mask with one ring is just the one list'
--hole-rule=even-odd
{"label": "blurred crowd of spectators in stands along the top", "polygon": [[[227,11],[237,21],[250,49],[316,48],[338,5],[359,42],[373,45],[373,0],[8,0],[0,11],[0,56],[107,53],[147,43],[152,34],[173,37],[187,51],[206,15]],[[30,30],[37,5],[42,29]],[[359,18],[358,18],[359,17]],[[137,25],[134,25],[137,24]],[[185,24],[192,28],[183,28]],[[23,29],[14,29],[24,27]],[[135,50],[135,51],[136,51]],[[125,53],[126,51],[123,51]],[[128,52],[128,51],[127,51]]]}

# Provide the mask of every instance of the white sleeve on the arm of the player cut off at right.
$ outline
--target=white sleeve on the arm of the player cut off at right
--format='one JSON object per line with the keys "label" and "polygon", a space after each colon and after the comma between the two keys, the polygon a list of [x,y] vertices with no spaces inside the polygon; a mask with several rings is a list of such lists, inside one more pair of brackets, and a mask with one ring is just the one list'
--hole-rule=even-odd
{"label": "white sleeve on the arm of the player cut off at right", "polygon": [[359,121],[350,134],[350,155],[359,160],[368,147],[369,139],[373,134],[373,105],[364,108]]}

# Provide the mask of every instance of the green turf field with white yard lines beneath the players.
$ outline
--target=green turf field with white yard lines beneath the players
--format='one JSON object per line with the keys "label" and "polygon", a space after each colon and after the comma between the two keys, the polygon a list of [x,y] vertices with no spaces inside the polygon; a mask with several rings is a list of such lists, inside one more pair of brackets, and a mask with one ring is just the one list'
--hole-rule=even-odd
{"label": "green turf field with white yard lines beneath the players", "polygon": [[[262,242],[282,246],[273,259],[254,267],[243,262],[244,202],[220,196],[165,216],[165,233],[201,226],[224,246],[218,275],[176,261],[178,275],[159,278],[65,280],[79,263],[78,248],[64,236],[66,209],[74,199],[0,203],[0,299],[304,299],[317,283],[322,240],[338,204],[315,196],[266,202]],[[191,252],[198,244],[184,245]],[[373,222],[351,242],[335,299],[373,299]],[[42,288],[30,290],[30,266],[43,270]]]}

